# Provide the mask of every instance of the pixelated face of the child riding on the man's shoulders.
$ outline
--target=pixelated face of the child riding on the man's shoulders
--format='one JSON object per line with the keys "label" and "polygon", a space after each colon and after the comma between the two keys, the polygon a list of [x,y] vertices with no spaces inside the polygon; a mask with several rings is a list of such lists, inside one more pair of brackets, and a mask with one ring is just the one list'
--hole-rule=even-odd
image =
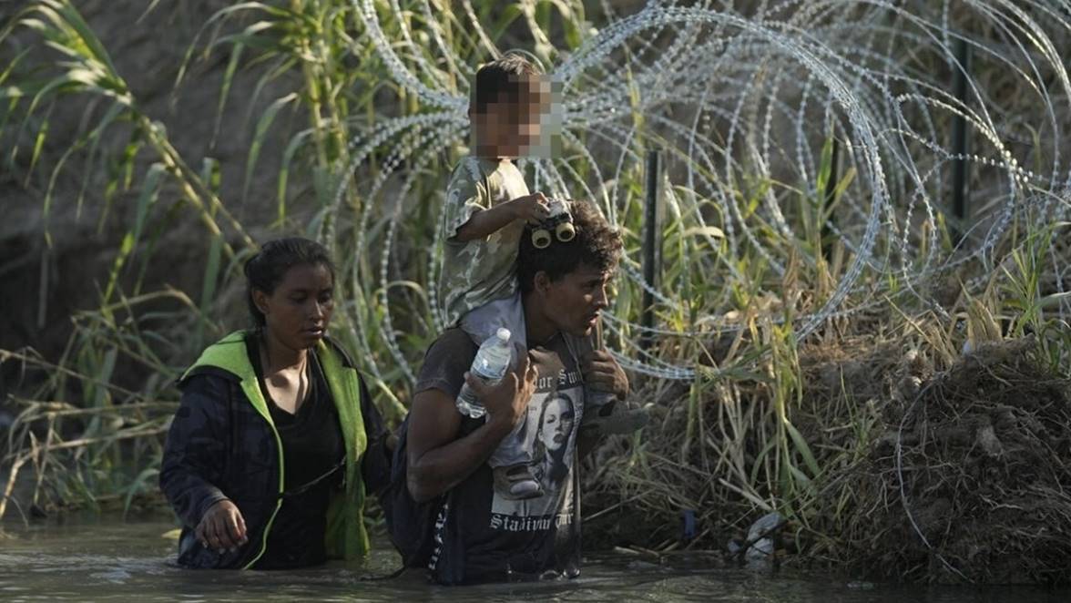
{"label": "pixelated face of the child riding on the man's shoulders", "polygon": [[492,102],[483,112],[472,114],[476,154],[519,157],[538,150],[543,118],[549,107],[549,81],[544,76],[529,76],[522,86],[518,102]]}

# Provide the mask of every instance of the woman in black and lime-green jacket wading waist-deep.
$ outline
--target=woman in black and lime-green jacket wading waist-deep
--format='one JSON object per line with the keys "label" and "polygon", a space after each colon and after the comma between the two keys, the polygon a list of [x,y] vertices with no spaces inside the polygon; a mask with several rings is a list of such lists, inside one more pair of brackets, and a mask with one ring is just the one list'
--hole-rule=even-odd
{"label": "woman in black and lime-green jacket wading waist-deep", "polygon": [[366,493],[389,479],[382,419],[327,328],[322,245],[267,243],[245,265],[256,322],[210,346],[179,382],[160,485],[182,519],[179,563],[284,569],[368,552]]}

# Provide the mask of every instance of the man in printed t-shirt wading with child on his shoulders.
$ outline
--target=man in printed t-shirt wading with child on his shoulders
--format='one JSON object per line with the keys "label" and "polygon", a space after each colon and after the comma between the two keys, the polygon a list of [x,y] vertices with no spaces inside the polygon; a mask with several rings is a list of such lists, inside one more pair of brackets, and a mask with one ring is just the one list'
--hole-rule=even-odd
{"label": "man in printed t-shirt wading with child on his shoulders", "polygon": [[[588,388],[623,401],[629,380],[605,352],[578,358],[579,342],[607,306],[621,238],[592,206],[572,203],[576,236],[538,250],[521,238],[517,276],[526,341],[512,371],[488,387],[467,375],[477,345],[461,329],[427,350],[408,418],[407,482],[412,498],[436,509],[428,569],[442,584],[579,574],[577,437]],[[486,420],[464,419],[454,405],[468,381]],[[538,498],[510,499],[494,487],[487,459],[518,423],[532,452]],[[538,442],[538,443],[537,443]]]}

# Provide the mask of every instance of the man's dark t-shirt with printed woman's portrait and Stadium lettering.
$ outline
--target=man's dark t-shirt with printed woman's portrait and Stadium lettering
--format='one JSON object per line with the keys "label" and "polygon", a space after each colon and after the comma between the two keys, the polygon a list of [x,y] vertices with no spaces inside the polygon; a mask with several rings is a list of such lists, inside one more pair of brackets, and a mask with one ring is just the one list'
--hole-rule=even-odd
{"label": "man's dark t-shirt with printed woman's portrait and Stadium lettering", "polygon": [[[417,391],[456,397],[477,346],[459,329],[428,349]],[[429,569],[443,584],[522,581],[579,574],[576,434],[584,412],[579,366],[571,342],[556,335],[530,350],[539,376],[521,429],[529,470],[543,495],[513,500],[495,488],[484,464],[444,497]]]}

